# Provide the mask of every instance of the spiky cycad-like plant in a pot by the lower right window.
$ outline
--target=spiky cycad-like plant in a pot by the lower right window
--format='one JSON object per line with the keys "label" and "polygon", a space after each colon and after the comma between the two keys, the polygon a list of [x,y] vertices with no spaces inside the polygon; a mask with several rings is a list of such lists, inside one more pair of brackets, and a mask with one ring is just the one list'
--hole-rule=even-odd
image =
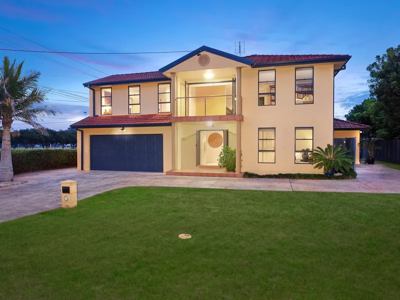
{"label": "spiky cycad-like plant in a pot by the lower right window", "polygon": [[341,145],[333,147],[327,144],[325,149],[316,147],[311,153],[309,161],[314,164],[314,168],[321,169],[325,175],[333,176],[334,171],[344,172],[353,167],[354,157],[347,155],[349,150],[342,148]]}

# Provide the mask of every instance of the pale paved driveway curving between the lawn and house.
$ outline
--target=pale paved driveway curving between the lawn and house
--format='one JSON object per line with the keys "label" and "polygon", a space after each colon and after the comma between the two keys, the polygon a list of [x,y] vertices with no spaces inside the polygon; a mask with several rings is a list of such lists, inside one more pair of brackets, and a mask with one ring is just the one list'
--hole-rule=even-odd
{"label": "pale paved driveway curving between the lawn and house", "polygon": [[59,207],[60,181],[77,180],[78,200],[123,186],[174,186],[228,189],[400,193],[400,170],[359,165],[357,179],[247,179],[166,176],[163,173],[77,171],[65,168],[19,174],[27,183],[0,188],[0,222]]}

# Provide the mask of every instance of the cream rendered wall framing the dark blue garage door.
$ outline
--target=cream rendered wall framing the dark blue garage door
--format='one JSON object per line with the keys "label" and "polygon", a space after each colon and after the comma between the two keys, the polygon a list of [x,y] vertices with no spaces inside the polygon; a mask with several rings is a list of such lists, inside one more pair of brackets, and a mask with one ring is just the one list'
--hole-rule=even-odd
{"label": "cream rendered wall framing the dark blue garage door", "polygon": [[[115,128],[84,128],[83,130],[83,170],[90,170],[90,135],[96,134],[162,134],[164,172],[172,168],[171,126],[125,127],[125,131]],[[77,169],[80,169],[80,132],[77,133]]]}

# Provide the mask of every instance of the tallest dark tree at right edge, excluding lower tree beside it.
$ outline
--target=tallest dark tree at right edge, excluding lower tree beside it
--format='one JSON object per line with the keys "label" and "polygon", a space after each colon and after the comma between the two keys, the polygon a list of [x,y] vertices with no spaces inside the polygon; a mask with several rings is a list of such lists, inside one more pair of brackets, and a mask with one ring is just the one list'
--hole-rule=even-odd
{"label": "tallest dark tree at right edge, excluding lower tree beside it", "polygon": [[377,55],[366,70],[370,95],[376,99],[371,107],[376,136],[396,138],[400,135],[400,45]]}

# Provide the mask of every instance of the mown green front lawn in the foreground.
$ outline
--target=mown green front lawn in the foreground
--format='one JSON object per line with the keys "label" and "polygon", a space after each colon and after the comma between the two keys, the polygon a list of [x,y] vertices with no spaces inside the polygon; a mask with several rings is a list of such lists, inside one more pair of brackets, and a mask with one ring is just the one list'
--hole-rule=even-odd
{"label": "mown green front lawn in the foreground", "polygon": [[398,299],[399,206],[398,194],[116,189],[0,223],[0,299]]}

